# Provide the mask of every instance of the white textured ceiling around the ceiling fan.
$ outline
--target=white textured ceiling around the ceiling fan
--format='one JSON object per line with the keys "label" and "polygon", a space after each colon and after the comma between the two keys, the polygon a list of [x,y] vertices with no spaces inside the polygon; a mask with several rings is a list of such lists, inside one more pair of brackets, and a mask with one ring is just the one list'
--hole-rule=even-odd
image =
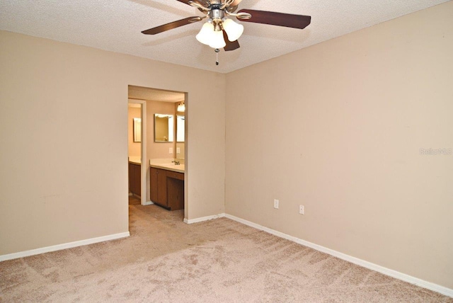
{"label": "white textured ceiling around the ceiling fan", "polygon": [[0,29],[76,45],[232,72],[447,0],[243,0],[239,8],[311,16],[304,30],[243,23],[241,48],[219,53],[195,40],[204,21],[158,35],[142,30],[203,16],[176,0],[0,0]]}

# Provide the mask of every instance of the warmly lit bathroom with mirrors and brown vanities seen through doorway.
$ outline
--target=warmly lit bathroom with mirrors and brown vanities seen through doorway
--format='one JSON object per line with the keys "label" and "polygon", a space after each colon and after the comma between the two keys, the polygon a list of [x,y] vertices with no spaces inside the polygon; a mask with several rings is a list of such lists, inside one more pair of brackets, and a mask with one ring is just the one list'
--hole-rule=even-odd
{"label": "warmly lit bathroom with mirrors and brown vanities seen through doorway", "polygon": [[186,123],[185,93],[129,86],[129,195],[140,204],[184,208]]}

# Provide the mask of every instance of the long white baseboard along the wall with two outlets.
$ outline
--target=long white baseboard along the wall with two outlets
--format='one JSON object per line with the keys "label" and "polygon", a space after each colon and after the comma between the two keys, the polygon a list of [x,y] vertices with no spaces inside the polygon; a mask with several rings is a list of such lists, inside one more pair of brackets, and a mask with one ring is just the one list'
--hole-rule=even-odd
{"label": "long white baseboard along the wall with two outlets", "polygon": [[228,214],[225,214],[224,217],[227,217],[228,219],[232,219],[232,220],[242,223],[242,224],[246,224],[249,227],[253,227],[253,228],[268,232],[269,234],[273,234],[274,236],[279,236],[280,238],[296,242],[297,244],[302,244],[304,246],[314,248],[314,249],[316,249],[316,251],[322,251],[323,253],[328,253],[331,256],[343,259],[345,261],[349,261],[350,263],[360,265],[360,266],[368,268],[370,270],[377,271],[378,273],[383,273],[384,275],[389,275],[392,278],[396,278],[398,280],[403,280],[405,282],[409,282],[411,284],[426,288],[428,290],[432,290],[434,292],[439,292],[442,295],[453,297],[453,290],[450,288],[447,288],[447,287],[444,287],[441,285],[437,285],[435,283],[428,282],[425,280],[421,280],[421,279],[415,278],[411,275],[406,275],[405,273],[400,273],[396,270],[384,268],[381,265],[377,265],[377,264],[374,264],[374,263],[371,263],[371,262],[368,262],[368,261],[365,261],[365,260],[362,260],[359,258],[355,258],[355,257],[349,256],[349,255],[346,255],[345,253],[340,253],[339,251],[334,251],[331,248],[326,248],[324,246],[296,238],[295,236],[289,236],[288,234],[284,234],[280,231],[276,231],[276,230],[270,229],[268,227],[263,227],[260,224],[256,224],[256,223],[247,221],[246,219],[241,219],[239,217],[234,217],[234,216],[228,215]]}

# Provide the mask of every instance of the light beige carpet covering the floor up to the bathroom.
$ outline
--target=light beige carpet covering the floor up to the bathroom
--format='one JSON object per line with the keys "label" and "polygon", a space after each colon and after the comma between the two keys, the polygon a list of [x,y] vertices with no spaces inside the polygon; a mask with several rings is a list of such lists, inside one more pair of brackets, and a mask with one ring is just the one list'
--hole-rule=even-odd
{"label": "light beige carpet covering the floor up to the bathroom", "polygon": [[126,239],[0,263],[0,302],[453,302],[226,218],[130,203]]}

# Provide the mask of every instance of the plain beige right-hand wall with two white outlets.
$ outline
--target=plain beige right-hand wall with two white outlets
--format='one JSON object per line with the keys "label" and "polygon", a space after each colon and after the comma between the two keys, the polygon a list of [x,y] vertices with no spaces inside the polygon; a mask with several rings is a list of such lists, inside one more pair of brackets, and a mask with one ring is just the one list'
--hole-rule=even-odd
{"label": "plain beige right-hand wall with two white outlets", "polygon": [[228,74],[226,213],[453,288],[452,12]]}

